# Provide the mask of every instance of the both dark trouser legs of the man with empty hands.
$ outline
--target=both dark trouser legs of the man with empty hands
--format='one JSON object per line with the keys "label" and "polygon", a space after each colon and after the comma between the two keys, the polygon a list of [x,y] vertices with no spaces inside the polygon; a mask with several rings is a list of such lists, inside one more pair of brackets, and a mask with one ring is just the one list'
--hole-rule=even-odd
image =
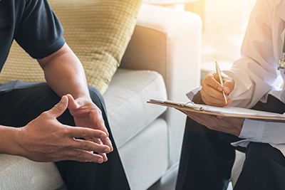
{"label": "both dark trouser legs of the man with empty hands", "polygon": [[[17,80],[0,85],[0,90],[0,125],[11,127],[25,126],[41,112],[50,110],[61,99],[46,83],[23,83]],[[68,189],[130,189],[110,132],[103,97],[91,86],[89,91],[93,102],[103,112],[114,150],[108,154],[108,162],[103,164],[61,161],[56,162],[56,166]],[[66,125],[75,125],[68,110],[58,120]]]}

